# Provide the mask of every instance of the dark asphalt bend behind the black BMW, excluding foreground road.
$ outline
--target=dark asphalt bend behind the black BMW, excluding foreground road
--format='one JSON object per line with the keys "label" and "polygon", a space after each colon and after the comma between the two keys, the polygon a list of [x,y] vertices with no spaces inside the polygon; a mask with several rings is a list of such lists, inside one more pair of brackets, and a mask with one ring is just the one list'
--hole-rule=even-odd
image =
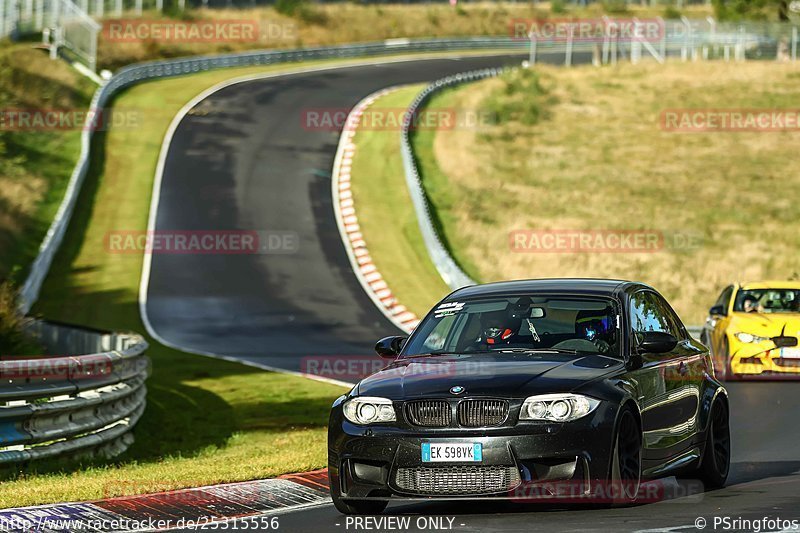
{"label": "dark asphalt bend behind the black BMW, excluding foreground road", "polygon": [[286,232],[298,248],[153,254],[145,306],[153,330],[190,351],[292,371],[306,356],[372,358],[375,341],[399,331],[364,293],[339,236],[331,198],[339,131],[314,129],[303,117],[346,114],[384,87],[521,59],[347,67],[236,84],[200,102],[169,147],[156,231]]}

